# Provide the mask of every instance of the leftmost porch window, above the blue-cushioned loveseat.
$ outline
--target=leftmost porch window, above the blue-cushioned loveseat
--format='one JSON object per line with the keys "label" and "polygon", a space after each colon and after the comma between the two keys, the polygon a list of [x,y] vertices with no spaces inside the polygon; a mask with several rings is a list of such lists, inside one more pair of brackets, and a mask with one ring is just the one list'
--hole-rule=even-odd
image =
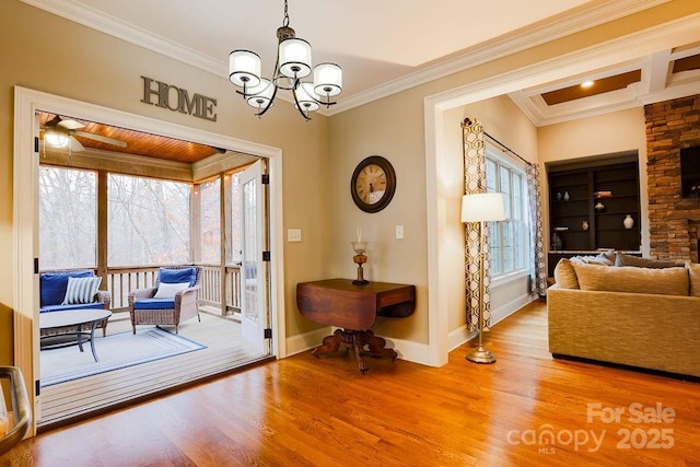
{"label": "leftmost porch window, above the blue-cushioned loveseat", "polygon": [[94,268],[97,262],[97,176],[39,167],[40,269]]}

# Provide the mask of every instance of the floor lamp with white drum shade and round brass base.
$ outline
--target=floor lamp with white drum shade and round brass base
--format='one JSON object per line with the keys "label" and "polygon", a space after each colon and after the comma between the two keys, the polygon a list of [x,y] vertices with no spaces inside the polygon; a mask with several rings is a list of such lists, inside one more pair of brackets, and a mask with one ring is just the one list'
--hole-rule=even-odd
{"label": "floor lamp with white drum shade and round brass base", "polygon": [[475,363],[493,363],[495,355],[483,348],[483,266],[486,262],[486,223],[505,220],[503,195],[500,192],[478,192],[462,197],[462,222],[479,222],[479,347],[467,353],[467,360]]}

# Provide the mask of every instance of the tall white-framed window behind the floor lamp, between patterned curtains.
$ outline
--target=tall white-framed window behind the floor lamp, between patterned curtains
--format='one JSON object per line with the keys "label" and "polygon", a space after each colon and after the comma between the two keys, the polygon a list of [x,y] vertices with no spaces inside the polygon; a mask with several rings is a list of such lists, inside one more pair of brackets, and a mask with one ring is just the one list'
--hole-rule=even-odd
{"label": "tall white-framed window behind the floor lamp, between patterned curtains", "polygon": [[525,171],[487,148],[487,191],[503,194],[505,221],[489,222],[491,277],[525,270],[527,219],[525,218]]}

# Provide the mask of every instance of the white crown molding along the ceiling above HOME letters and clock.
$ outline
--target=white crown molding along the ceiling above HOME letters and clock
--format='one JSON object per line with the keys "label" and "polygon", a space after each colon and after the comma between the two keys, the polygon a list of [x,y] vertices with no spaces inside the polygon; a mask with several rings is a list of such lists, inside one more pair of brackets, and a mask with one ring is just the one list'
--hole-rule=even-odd
{"label": "white crown molding along the ceiling above HOME letters and clock", "polygon": [[[182,44],[155,35],[114,16],[85,7],[77,0],[21,0],[49,13],[82,24],[183,63],[219,77],[228,75],[228,61],[210,57]],[[670,0],[600,0],[584,4],[532,26],[488,40],[476,47],[421,68],[411,74],[388,81],[368,91],[341,100],[332,108],[319,112],[331,116],[392,94],[424,84],[450,74],[477,67],[517,51],[604,24]],[[283,98],[283,96],[280,96]],[[290,100],[283,98],[291,102]]]}

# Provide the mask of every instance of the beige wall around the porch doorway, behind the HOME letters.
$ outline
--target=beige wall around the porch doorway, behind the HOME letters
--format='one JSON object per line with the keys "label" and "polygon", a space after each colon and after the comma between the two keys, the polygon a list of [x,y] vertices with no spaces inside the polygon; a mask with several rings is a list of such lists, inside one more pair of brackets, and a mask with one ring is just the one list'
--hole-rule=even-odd
{"label": "beige wall around the porch doorway, behind the HOME letters", "polygon": [[[13,86],[22,85],[158,120],[280,148],[283,153],[283,222],[304,230],[304,242],[284,244],[287,335],[316,326],[296,311],[296,282],[325,277],[330,242],[327,118],[304,121],[278,102],[262,119],[221,77],[132,46],[15,0],[0,5],[0,364],[12,363],[12,306],[15,285],[13,238]],[[225,57],[222,58],[225,60]],[[212,122],[142,104],[140,77],[162,80],[218,100]],[[79,115],[75,117],[80,117]],[[307,180],[313,179],[310,184]]]}

